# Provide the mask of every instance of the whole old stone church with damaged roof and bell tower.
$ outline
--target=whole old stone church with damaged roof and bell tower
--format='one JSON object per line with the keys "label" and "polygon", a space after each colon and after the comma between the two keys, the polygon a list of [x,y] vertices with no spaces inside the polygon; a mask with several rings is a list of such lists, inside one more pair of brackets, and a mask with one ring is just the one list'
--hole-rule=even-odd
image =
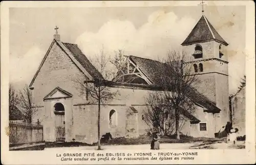
{"label": "whole old stone church with damaged roof and bell tower", "polygon": [[[228,55],[225,52],[228,43],[202,15],[181,45],[194,59],[189,62],[194,67],[191,74],[197,74],[202,80],[191,97],[197,106],[195,113],[182,112],[185,120],[181,132],[194,137],[214,137],[230,120]],[[126,72],[122,72],[110,86],[113,91],[119,90],[118,100],[101,108],[102,134],[110,132],[113,137],[120,137],[146,133],[149,126],[144,122],[146,104],[143,98],[148,92],[157,92],[150,87],[157,78],[156,63],[159,61],[127,57]],[[137,77],[120,81],[129,76],[127,73]],[[101,77],[77,44],[62,42],[56,32],[29,86],[38,108],[34,120],[38,117],[42,121],[47,142],[70,142],[72,139],[97,142],[97,104],[88,104],[90,98],[81,95],[74,80]]]}

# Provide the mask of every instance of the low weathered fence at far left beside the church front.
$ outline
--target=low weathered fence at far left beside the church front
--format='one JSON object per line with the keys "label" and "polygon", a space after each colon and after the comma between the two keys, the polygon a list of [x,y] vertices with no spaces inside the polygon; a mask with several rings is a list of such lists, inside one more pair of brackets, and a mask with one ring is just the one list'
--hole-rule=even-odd
{"label": "low weathered fence at far left beside the church front", "polygon": [[41,125],[9,122],[9,147],[31,145],[44,142]]}

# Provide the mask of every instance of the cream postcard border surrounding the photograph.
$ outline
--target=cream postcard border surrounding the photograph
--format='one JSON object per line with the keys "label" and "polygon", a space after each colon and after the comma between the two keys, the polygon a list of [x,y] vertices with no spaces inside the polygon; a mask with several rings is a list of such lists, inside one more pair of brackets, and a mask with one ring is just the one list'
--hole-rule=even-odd
{"label": "cream postcard border surrounding the photograph", "polygon": [[[28,7],[150,7],[150,6],[197,6],[199,1],[94,1],[94,2],[1,2],[1,161],[3,164],[70,164],[59,161],[57,151],[9,151],[8,136],[8,84],[9,84],[9,8]],[[198,152],[194,160],[172,161],[173,164],[244,164],[255,163],[255,11],[253,1],[207,1],[208,5],[246,6],[246,149],[237,150],[185,150]],[[164,152],[165,150],[161,150]],[[170,150],[166,150],[170,151]],[[173,152],[177,150],[171,150]],[[58,153],[69,152],[60,149]],[[72,152],[95,152],[76,151]],[[105,153],[106,151],[101,151]],[[114,152],[114,151],[113,151]],[[133,153],[134,150],[116,152]],[[145,151],[143,151],[145,152]],[[180,152],[180,151],[179,151]],[[109,161],[74,162],[75,164],[168,164],[169,161]]]}

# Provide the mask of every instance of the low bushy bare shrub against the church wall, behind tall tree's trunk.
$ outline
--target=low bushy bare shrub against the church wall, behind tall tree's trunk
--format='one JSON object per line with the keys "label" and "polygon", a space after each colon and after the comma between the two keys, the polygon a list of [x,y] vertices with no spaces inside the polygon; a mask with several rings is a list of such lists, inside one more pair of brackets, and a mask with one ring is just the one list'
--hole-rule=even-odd
{"label": "low bushy bare shrub against the church wall, behind tall tree's trunk", "polygon": [[[183,115],[180,115],[178,130],[185,124],[185,113],[194,113],[195,104],[189,100],[186,98],[186,102],[184,101],[184,104],[179,108]],[[149,93],[146,96],[146,105],[143,110],[143,121],[148,126],[153,126],[153,130],[163,133],[162,135],[171,134],[176,130],[174,127],[176,124],[175,109],[163,91]]]}

